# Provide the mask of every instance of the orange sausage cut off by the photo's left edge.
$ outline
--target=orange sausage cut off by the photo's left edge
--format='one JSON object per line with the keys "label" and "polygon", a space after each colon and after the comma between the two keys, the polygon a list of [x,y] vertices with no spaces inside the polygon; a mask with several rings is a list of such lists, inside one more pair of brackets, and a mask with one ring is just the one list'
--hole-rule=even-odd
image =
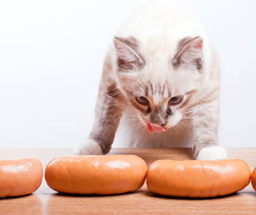
{"label": "orange sausage cut off by the photo's left edge", "polygon": [[0,198],[31,194],[42,179],[42,163],[35,158],[0,160]]}

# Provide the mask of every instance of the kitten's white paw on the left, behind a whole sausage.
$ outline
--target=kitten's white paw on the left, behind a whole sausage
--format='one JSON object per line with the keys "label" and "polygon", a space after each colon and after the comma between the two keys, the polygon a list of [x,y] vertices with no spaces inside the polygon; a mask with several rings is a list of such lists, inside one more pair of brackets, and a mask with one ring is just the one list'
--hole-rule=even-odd
{"label": "kitten's white paw on the left, behind a whole sausage", "polygon": [[92,139],[87,139],[85,142],[76,147],[73,151],[75,155],[102,155],[102,148]]}

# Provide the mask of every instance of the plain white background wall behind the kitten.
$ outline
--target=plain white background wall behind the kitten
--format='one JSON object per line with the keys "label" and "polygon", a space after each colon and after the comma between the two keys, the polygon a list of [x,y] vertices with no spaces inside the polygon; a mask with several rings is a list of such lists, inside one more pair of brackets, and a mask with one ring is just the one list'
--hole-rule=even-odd
{"label": "plain white background wall behind the kitten", "polygon": [[[108,43],[142,2],[0,0],[1,148],[71,148],[87,137]],[[254,147],[256,1],[183,2],[221,60],[221,144]]]}

